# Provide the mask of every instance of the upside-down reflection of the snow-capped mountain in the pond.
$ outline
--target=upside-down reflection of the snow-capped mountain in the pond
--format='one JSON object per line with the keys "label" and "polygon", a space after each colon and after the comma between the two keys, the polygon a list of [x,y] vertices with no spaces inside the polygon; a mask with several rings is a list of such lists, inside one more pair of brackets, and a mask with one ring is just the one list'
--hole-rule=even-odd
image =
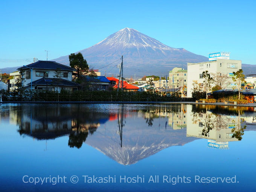
{"label": "upside-down reflection of the snow-capped mountain in the pond", "polygon": [[[127,112],[125,109],[123,111]],[[117,122],[99,128],[85,142],[122,165],[134,164],[170,146],[181,146],[197,139],[186,137],[186,129],[173,130],[167,127],[166,108],[163,110],[165,113],[162,113],[159,112],[161,107],[151,106],[139,112],[130,112],[128,116],[123,111],[117,114]],[[154,123],[151,125],[145,122],[145,116],[154,117],[151,120]]]}

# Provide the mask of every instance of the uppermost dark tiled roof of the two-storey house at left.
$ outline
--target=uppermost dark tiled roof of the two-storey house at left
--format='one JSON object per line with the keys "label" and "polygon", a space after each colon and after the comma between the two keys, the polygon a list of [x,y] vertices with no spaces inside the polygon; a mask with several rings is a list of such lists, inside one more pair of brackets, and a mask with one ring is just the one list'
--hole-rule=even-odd
{"label": "uppermost dark tiled roof of the two-storey house at left", "polygon": [[18,68],[18,70],[24,70],[24,69],[52,69],[52,70],[66,70],[66,71],[76,71],[74,68],[62,65],[60,63],[57,63],[55,61],[37,61],[34,63],[31,63],[29,65],[26,65],[27,67],[23,66]]}

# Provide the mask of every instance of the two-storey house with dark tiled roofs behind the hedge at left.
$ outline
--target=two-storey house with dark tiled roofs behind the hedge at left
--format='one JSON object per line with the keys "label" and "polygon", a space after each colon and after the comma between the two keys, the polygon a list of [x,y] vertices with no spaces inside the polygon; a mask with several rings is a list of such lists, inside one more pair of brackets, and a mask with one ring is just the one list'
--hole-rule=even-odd
{"label": "two-storey house with dark tiled roofs behind the hedge at left", "polygon": [[26,90],[78,90],[79,84],[72,81],[72,67],[55,61],[37,61],[18,68]]}

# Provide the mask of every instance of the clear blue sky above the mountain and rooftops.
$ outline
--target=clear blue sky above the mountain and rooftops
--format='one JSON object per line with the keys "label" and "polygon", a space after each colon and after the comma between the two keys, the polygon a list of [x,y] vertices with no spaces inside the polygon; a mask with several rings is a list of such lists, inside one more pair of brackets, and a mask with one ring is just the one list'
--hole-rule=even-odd
{"label": "clear blue sky above the mountain and rooftops", "polygon": [[[244,1],[5,1],[0,59],[46,60],[88,48],[125,27],[175,48],[256,64],[256,3]],[[0,68],[23,62],[0,62]]]}

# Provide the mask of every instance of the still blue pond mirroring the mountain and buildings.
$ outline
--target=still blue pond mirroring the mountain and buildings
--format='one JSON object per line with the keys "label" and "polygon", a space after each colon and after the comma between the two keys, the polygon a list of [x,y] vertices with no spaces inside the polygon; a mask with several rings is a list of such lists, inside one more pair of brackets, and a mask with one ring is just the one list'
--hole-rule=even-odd
{"label": "still blue pond mirroring the mountain and buildings", "polygon": [[256,108],[2,104],[1,191],[255,191]]}

